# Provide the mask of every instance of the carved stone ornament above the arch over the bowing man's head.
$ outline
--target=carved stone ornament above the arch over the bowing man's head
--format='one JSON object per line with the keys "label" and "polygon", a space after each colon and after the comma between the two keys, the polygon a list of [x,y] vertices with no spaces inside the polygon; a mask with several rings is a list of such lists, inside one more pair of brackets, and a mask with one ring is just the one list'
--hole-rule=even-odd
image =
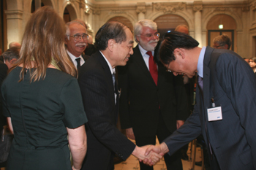
{"label": "carved stone ornament above the arch over the bowing man's head", "polygon": [[177,10],[184,10],[187,8],[187,4],[184,2],[173,2],[173,3],[154,3],[154,9],[163,11],[164,13],[173,13]]}

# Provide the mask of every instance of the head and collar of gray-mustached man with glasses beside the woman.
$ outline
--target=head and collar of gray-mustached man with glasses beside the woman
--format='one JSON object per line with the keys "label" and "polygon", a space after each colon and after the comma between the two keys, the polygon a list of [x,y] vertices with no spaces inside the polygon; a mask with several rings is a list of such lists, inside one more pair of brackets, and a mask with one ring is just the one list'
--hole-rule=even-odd
{"label": "head and collar of gray-mustached man with glasses beside the woman", "polygon": [[86,28],[77,20],[66,24],[65,45],[67,46],[67,54],[77,69],[89,58],[88,55],[82,54],[86,49],[88,37]]}

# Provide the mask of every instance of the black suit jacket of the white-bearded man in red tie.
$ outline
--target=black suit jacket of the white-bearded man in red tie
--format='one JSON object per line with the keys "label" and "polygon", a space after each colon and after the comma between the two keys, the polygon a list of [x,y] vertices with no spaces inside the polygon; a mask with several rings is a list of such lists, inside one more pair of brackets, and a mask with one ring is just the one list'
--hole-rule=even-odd
{"label": "black suit jacket of the white-bearded man in red tie", "polygon": [[133,51],[127,66],[118,67],[121,127],[133,128],[135,136],[155,136],[160,107],[168,130],[175,131],[176,120],[186,120],[188,117],[182,77],[173,76],[162,63],[157,63],[156,85],[139,47]]}

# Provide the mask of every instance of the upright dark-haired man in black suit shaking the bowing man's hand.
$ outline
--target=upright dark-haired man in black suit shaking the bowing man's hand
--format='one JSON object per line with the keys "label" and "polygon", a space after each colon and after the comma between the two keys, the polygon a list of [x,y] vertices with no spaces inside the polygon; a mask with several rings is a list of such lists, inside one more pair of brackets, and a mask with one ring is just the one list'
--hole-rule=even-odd
{"label": "upright dark-haired man in black suit shaking the bowing man's hand", "polygon": [[[79,70],[78,82],[88,117],[88,149],[82,169],[112,170],[113,155],[126,160],[135,155],[143,160],[146,147],[137,147],[116,128],[118,87],[115,67],[124,66],[133,53],[132,32],[118,22],[99,28],[95,38],[98,51]],[[161,156],[156,154],[154,162]]]}

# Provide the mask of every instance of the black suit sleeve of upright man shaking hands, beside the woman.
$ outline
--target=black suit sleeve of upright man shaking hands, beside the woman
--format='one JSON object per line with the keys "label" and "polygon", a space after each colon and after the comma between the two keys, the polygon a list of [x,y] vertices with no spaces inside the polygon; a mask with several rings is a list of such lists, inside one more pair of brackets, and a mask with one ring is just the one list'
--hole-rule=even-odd
{"label": "black suit sleeve of upright man shaking hands, beside the woman", "polygon": [[78,79],[88,125],[99,142],[125,160],[132,154],[135,144],[121,134],[113,124],[115,107],[110,104],[108,82],[104,75],[96,68]]}

